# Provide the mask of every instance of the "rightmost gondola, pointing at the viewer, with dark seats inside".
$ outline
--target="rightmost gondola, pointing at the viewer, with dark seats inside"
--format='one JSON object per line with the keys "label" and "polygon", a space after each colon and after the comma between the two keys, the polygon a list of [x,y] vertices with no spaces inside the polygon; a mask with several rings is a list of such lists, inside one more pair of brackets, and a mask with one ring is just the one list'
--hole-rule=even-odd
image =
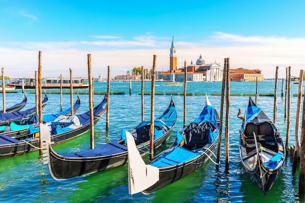
{"label": "rightmost gondola, pointing at the viewer, with dark seats inside", "polygon": [[249,97],[239,136],[241,163],[266,196],[279,177],[286,156],[283,139],[267,115]]}

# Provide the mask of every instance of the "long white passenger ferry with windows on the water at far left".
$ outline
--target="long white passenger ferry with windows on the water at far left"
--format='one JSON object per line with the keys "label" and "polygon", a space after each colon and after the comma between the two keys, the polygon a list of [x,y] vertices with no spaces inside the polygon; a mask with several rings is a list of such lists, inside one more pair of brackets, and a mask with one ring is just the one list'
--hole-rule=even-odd
{"label": "long white passenger ferry with windows on the water at far left", "polygon": [[[88,78],[72,78],[73,89],[86,89],[89,87],[89,82],[85,82]],[[18,80],[7,83],[7,85],[15,86],[16,89],[22,89],[22,82],[24,89],[35,89],[35,78],[24,77]],[[70,78],[62,78],[62,89],[70,89]],[[41,81],[41,89],[60,89],[60,78],[43,78]]]}

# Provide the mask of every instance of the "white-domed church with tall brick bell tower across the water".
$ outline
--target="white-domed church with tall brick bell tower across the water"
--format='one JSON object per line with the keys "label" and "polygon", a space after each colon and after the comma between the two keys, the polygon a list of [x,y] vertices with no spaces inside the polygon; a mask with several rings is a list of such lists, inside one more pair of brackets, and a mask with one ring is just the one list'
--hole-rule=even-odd
{"label": "white-domed church with tall brick bell tower across the water", "polygon": [[[184,67],[187,68],[187,80],[188,81],[222,81],[223,71],[220,70],[220,64],[209,63],[206,64],[205,60],[202,58],[202,55],[196,60],[196,64],[186,66],[186,61],[184,62]],[[168,81],[184,81],[185,68],[177,68],[177,53],[175,42],[172,37],[172,47],[170,49],[170,71],[169,72],[160,72],[160,78]]]}

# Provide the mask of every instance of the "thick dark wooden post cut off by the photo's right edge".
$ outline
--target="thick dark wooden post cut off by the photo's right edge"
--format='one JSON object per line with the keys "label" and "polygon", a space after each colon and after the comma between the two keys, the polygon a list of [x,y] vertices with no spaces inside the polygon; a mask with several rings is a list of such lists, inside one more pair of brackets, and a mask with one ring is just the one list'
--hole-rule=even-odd
{"label": "thick dark wooden post cut off by the photo's right edge", "polygon": [[[302,76],[303,80],[303,76]],[[304,92],[305,95],[305,92]],[[299,177],[299,198],[304,198],[305,193],[305,96],[303,99],[302,133],[301,133],[301,157],[300,157],[300,177]]]}

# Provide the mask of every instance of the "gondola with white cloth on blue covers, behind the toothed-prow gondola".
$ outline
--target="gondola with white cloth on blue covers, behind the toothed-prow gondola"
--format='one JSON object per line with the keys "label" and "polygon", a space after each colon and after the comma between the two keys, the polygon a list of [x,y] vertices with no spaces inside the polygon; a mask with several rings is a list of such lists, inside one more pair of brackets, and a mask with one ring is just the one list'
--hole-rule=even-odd
{"label": "gondola with white cloth on blue covers, behind the toothed-prow gondola", "polygon": [[[106,105],[107,95],[105,94],[103,101],[93,109],[94,123],[104,114]],[[60,144],[90,130],[90,111],[72,115],[65,119],[58,117],[56,120],[43,125],[47,126],[49,131],[51,131],[52,142],[54,144]],[[0,135],[0,138],[0,158],[29,153],[39,148],[39,133],[30,133],[14,137]]]}

